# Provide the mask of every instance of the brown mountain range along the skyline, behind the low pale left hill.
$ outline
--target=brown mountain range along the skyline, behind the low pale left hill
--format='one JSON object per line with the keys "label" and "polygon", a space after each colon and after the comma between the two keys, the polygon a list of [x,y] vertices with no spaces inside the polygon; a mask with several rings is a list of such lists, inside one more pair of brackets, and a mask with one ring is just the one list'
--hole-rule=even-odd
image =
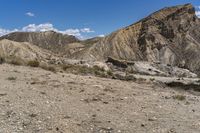
{"label": "brown mountain range along the skyline, behind the low pale left hill", "polygon": [[16,32],[0,37],[4,39],[28,42],[70,59],[160,62],[200,74],[200,19],[191,4],[163,8],[103,38],[81,41],[48,31]]}

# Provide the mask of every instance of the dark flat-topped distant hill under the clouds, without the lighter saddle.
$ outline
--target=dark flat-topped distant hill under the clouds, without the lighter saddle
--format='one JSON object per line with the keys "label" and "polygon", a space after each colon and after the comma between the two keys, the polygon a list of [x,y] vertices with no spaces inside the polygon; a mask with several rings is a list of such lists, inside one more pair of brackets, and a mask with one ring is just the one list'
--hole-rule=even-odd
{"label": "dark flat-topped distant hill under the clouds, without the lighter saddle", "polygon": [[16,42],[29,42],[41,48],[51,50],[55,53],[64,52],[67,44],[79,42],[71,35],[63,35],[54,31],[47,32],[14,32],[0,37],[0,40],[8,39]]}

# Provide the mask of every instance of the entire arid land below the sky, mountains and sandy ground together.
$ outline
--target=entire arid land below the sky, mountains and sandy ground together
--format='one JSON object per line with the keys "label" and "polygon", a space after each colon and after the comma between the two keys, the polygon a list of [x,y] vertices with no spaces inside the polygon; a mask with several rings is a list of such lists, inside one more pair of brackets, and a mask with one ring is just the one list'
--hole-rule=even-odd
{"label": "entire arid land below the sky, mountains and sandy ground together", "polygon": [[166,7],[105,37],[0,37],[0,133],[199,133],[200,19]]}

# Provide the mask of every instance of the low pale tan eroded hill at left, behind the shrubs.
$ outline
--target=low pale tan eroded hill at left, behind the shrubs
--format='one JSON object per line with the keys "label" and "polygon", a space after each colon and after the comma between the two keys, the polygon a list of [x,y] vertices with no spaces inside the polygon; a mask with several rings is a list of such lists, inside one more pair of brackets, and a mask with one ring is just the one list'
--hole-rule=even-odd
{"label": "low pale tan eroded hill at left, behind the shrubs", "polygon": [[51,62],[59,58],[48,50],[27,42],[19,43],[10,40],[0,41],[0,59],[5,62],[24,64],[28,61]]}

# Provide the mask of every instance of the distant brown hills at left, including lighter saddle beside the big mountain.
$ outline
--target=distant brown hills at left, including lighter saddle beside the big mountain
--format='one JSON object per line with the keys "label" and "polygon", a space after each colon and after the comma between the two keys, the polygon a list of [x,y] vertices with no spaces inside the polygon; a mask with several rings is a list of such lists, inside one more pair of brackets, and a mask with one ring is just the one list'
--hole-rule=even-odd
{"label": "distant brown hills at left, including lighter saddle beside the big mountain", "polygon": [[46,32],[14,32],[0,37],[0,40],[7,39],[15,42],[28,42],[50,50],[53,53],[63,55],[70,58],[72,54],[83,50],[94,43],[98,42],[101,38],[95,37],[87,40],[79,40],[71,35],[63,35],[54,31]]}

